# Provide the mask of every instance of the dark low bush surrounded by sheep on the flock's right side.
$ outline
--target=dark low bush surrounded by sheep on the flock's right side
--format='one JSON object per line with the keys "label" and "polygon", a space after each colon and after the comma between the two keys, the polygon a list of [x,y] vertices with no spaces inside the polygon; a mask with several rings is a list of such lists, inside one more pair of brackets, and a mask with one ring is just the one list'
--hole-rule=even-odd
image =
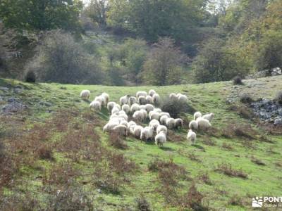
{"label": "dark low bush surrounded by sheep on the flock's right side", "polygon": [[171,117],[178,117],[180,113],[195,113],[195,108],[189,106],[188,103],[180,102],[177,99],[171,99],[169,97],[164,98],[161,103],[161,110],[167,112]]}

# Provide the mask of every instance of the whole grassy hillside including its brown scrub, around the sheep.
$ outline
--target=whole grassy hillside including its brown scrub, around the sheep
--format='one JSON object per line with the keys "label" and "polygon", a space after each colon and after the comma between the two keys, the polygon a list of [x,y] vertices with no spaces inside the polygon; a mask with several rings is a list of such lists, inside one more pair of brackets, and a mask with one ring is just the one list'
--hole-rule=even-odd
{"label": "whole grassy hillside including its brown scrub, around the sheep", "polygon": [[[103,87],[0,79],[0,87],[8,88],[0,89],[0,106],[8,101],[21,105],[17,112],[0,115],[5,146],[0,151],[0,210],[78,210],[78,201],[82,208],[92,203],[94,210],[136,210],[142,198],[152,210],[251,210],[255,196],[281,196],[282,135],[243,118],[240,108],[246,109],[236,97],[247,92],[272,98],[281,83],[282,77],[271,77],[237,87],[231,82]],[[90,111],[79,97],[82,89],[91,91],[91,99],[106,91],[118,102],[120,96],[152,88],[162,97],[181,92],[196,110],[213,112],[212,129],[198,133],[191,146],[186,135],[192,114],[186,113],[185,127],[169,131],[164,148],[128,136],[121,149],[102,132],[109,119],[106,109]],[[226,103],[230,97],[234,105]],[[194,184],[197,191],[190,188]]]}

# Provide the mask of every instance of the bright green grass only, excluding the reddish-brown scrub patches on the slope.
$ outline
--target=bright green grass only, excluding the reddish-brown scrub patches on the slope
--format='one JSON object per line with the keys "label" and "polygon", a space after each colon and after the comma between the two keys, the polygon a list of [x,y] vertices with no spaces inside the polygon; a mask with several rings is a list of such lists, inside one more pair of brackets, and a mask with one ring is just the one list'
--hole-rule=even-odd
{"label": "bright green grass only, excluding the reddish-brown scrub patches on the slope", "polygon": [[[269,97],[275,96],[278,91],[278,84],[282,82],[282,77],[276,77],[274,81],[269,79],[259,79],[264,82],[265,89]],[[275,84],[274,84],[275,83]],[[157,190],[160,182],[157,172],[150,172],[147,165],[152,160],[159,158],[161,160],[172,159],[178,165],[185,167],[188,177],[194,179],[198,191],[204,195],[204,203],[209,204],[210,208],[215,210],[251,210],[252,197],[255,196],[281,196],[281,170],[282,167],[276,165],[281,162],[282,136],[269,136],[274,143],[266,143],[259,140],[252,140],[255,148],[245,146],[244,140],[241,138],[226,139],[223,136],[213,136],[213,134],[198,134],[197,143],[191,146],[186,139],[187,132],[185,130],[174,132],[182,137],[181,141],[168,141],[164,148],[158,148],[154,144],[144,143],[132,137],[126,139],[128,148],[125,150],[117,150],[107,144],[108,134],[102,132],[102,125],[106,123],[109,116],[106,111],[94,114],[88,110],[89,103],[80,100],[79,94],[82,89],[91,91],[90,100],[94,96],[106,91],[110,95],[111,101],[118,102],[120,96],[125,94],[135,94],[136,91],[155,89],[162,97],[167,96],[171,92],[181,92],[188,95],[189,104],[202,113],[213,112],[215,114],[213,127],[221,129],[227,124],[251,124],[255,130],[260,131],[251,120],[241,118],[237,113],[228,109],[226,98],[230,94],[231,82],[216,82],[210,84],[189,84],[170,87],[106,87],[93,85],[71,85],[71,84],[25,84],[23,82],[13,81],[10,79],[0,79],[0,87],[16,87],[24,86],[25,89],[20,94],[13,91],[4,93],[0,91],[0,95],[16,96],[29,106],[28,113],[16,114],[16,117],[24,116],[26,118],[24,127],[32,128],[38,122],[46,122],[52,117],[52,112],[61,109],[77,108],[80,113],[89,112],[93,116],[99,117],[101,125],[97,125],[93,129],[99,134],[102,146],[109,148],[111,151],[123,153],[125,158],[133,160],[138,166],[135,174],[128,174],[130,183],[125,184],[121,188],[119,194],[99,193],[97,187],[92,184],[92,174],[94,172],[92,166],[93,161],[80,160],[74,162],[69,160],[67,153],[54,150],[55,161],[35,160],[35,162],[27,166],[23,164],[20,170],[14,175],[13,186],[4,188],[4,196],[12,195],[14,191],[20,190],[22,193],[32,193],[40,200],[42,204],[46,203],[47,192],[42,194],[42,178],[44,170],[50,170],[51,165],[69,160],[73,167],[80,171],[80,177],[75,180],[82,186],[88,195],[91,196],[92,202],[97,209],[102,210],[125,210],[126,207],[135,207],[135,199],[141,194],[147,198],[152,210],[179,210],[179,207],[170,205],[165,202],[164,196]],[[264,96],[266,90],[256,87],[243,87],[243,91],[253,93],[255,98]],[[52,106],[39,106],[39,101],[47,101]],[[240,103],[238,103],[240,105]],[[51,113],[49,113],[51,111]],[[189,120],[192,114],[185,114]],[[80,116],[76,117],[74,122],[83,124]],[[72,122],[69,122],[71,124]],[[7,128],[10,127],[7,125]],[[48,141],[55,143],[60,140],[64,132],[54,132]],[[206,136],[216,143],[215,146],[209,146],[204,143]],[[5,141],[5,139],[4,139]],[[231,151],[222,147],[223,143],[233,146]],[[190,154],[194,154],[200,161],[191,160]],[[257,165],[252,162],[252,156],[262,160],[266,165]],[[219,171],[216,171],[218,165],[222,163],[231,164],[233,169],[242,170],[247,174],[247,179],[240,177],[228,177]],[[44,169],[44,170],[42,170]],[[198,175],[207,172],[212,184],[204,184],[198,179]],[[37,178],[37,179],[35,179]],[[82,181],[86,181],[83,183]],[[181,180],[178,193],[185,193],[192,184],[190,179]],[[55,188],[61,188],[61,185],[54,185]],[[242,205],[231,205],[230,200],[236,196],[243,200]]]}

